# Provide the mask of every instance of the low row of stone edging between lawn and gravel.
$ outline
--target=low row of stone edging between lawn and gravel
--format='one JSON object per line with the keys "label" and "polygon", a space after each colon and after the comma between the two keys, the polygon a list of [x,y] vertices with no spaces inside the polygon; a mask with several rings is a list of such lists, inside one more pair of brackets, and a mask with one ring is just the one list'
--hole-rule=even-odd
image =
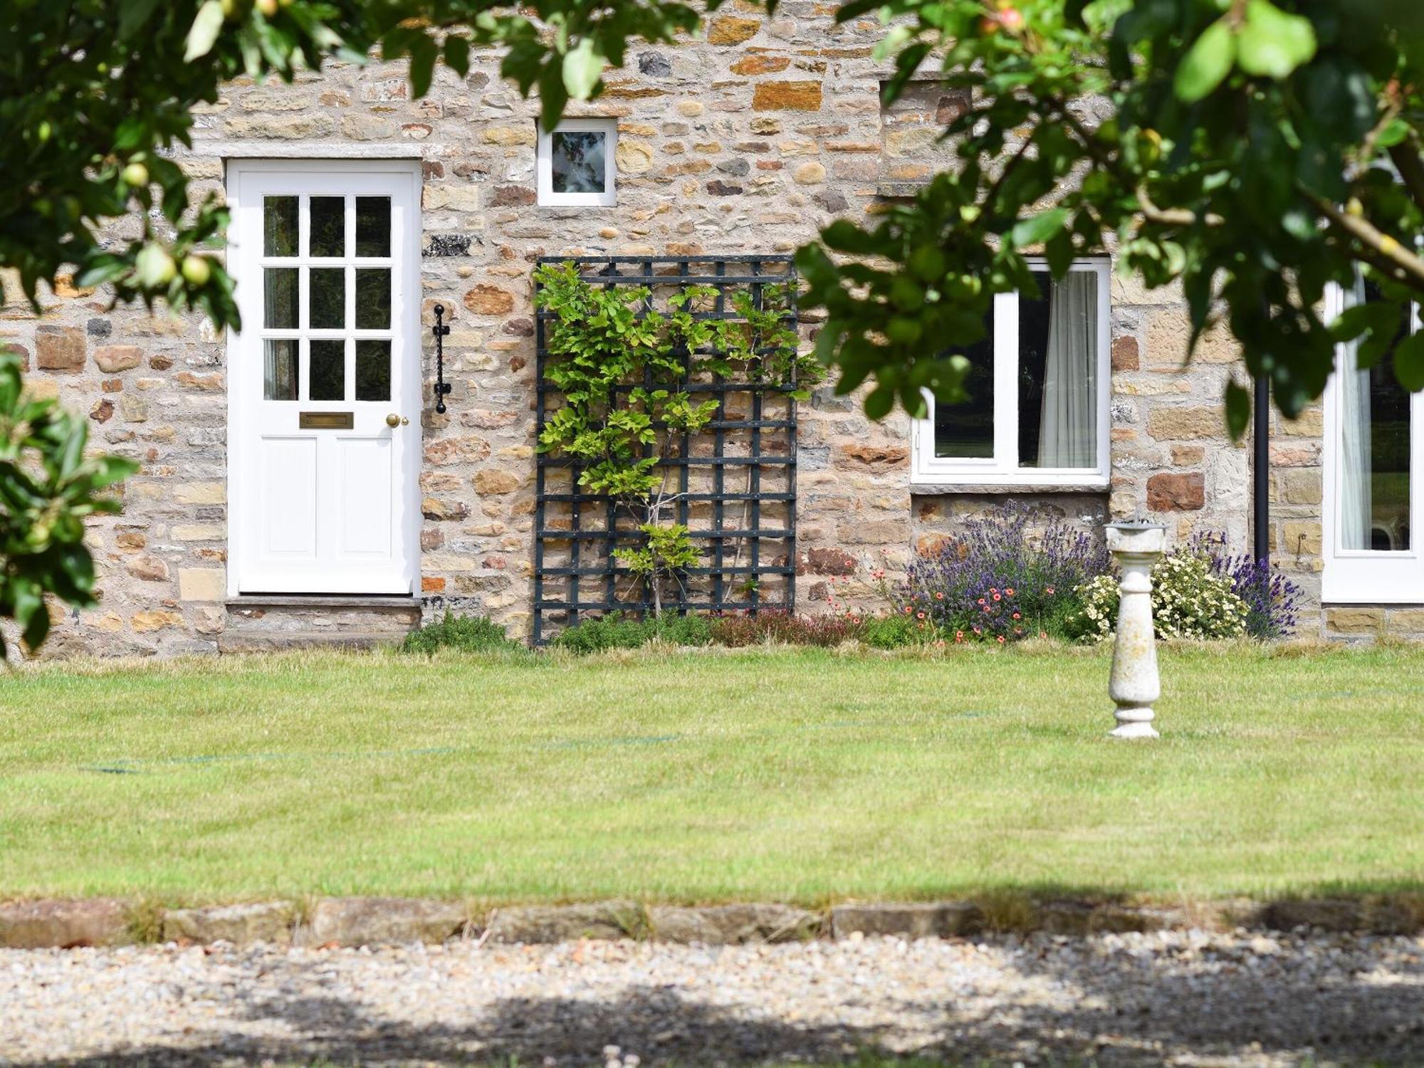
{"label": "low row of stone edging between lawn and gravel", "polygon": [[148,911],[112,897],[0,904],[0,948],[144,941],[355,947],[451,938],[497,944],[641,938],[732,946],[863,936],[948,938],[1031,931],[1084,936],[1190,927],[1418,934],[1424,933],[1424,896],[1233,900],[1198,906],[1001,897],[852,903],[822,911],[786,904],[689,907],[598,901],[476,913],[459,901],[412,897],[323,897],[305,907],[279,900]]}

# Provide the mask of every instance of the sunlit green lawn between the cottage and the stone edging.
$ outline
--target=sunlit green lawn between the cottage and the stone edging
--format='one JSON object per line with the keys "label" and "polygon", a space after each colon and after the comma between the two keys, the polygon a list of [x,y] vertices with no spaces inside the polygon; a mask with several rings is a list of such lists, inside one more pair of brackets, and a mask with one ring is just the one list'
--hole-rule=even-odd
{"label": "sunlit green lawn between the cottage and the stone edging", "polygon": [[1424,887],[1424,648],[290,654],[0,678],[0,897]]}

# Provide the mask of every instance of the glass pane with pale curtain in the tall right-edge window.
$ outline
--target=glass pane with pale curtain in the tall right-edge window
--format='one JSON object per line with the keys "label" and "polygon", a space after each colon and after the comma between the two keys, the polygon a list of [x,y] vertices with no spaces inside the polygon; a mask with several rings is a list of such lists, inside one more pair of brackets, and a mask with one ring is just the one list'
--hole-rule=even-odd
{"label": "glass pane with pale curtain in the tall right-edge window", "polygon": [[[1371,285],[1366,299],[1380,299]],[[1340,547],[1403,553],[1410,530],[1410,393],[1394,377],[1394,350],[1410,333],[1401,309],[1390,350],[1368,370],[1343,367],[1340,396]]]}

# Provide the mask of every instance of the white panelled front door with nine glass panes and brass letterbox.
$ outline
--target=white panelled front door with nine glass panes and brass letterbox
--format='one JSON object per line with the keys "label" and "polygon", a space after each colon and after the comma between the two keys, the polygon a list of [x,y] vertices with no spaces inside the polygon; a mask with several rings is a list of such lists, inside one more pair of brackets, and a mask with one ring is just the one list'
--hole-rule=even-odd
{"label": "white panelled front door with nine glass panes and brass letterbox", "polygon": [[235,161],[228,592],[413,594],[419,164]]}

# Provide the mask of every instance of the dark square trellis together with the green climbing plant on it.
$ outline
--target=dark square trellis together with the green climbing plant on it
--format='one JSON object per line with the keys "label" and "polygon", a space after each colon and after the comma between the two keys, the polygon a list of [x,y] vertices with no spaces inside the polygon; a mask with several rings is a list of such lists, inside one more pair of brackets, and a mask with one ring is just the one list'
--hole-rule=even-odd
{"label": "dark square trellis together with the green climbing plant on it", "polygon": [[544,258],[534,282],[534,641],[584,614],[790,609],[796,402],[820,375],[790,256]]}

